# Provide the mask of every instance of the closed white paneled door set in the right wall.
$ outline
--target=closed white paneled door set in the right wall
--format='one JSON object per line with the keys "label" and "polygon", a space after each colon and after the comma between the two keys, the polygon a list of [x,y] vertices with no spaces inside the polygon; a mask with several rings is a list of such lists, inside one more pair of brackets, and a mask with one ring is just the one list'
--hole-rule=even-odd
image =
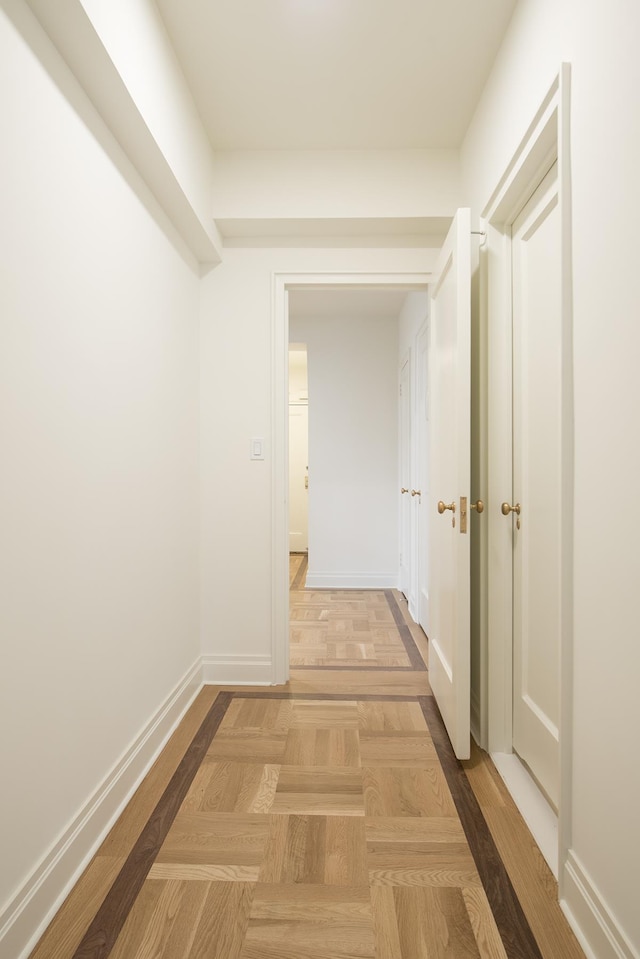
{"label": "closed white paneled door set in the right wall", "polygon": [[[512,226],[513,748],[558,807],[561,289],[557,166]],[[513,507],[513,509],[510,509]]]}

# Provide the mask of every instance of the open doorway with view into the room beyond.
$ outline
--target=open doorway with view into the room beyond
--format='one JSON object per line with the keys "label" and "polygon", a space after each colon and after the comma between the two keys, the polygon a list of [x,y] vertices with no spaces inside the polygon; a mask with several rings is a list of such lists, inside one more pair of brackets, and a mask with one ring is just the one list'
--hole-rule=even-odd
{"label": "open doorway with view into the room beyond", "polygon": [[[427,311],[426,292],[403,289],[289,295],[292,667],[408,668],[404,651],[383,650],[377,617],[389,615],[384,591],[398,588],[405,566],[412,571],[406,507],[416,523],[428,509],[427,480],[418,479],[425,457],[413,450],[426,440],[411,429],[417,397],[400,361]],[[426,360],[417,380],[425,376]]]}

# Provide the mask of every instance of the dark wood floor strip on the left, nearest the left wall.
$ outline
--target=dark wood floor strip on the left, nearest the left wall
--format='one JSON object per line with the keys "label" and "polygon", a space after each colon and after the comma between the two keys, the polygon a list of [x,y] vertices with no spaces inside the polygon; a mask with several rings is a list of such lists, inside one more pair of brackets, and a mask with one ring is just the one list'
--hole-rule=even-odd
{"label": "dark wood floor strip on the left, nearest the left wall", "polygon": [[232,699],[218,693],[73,959],[107,959]]}

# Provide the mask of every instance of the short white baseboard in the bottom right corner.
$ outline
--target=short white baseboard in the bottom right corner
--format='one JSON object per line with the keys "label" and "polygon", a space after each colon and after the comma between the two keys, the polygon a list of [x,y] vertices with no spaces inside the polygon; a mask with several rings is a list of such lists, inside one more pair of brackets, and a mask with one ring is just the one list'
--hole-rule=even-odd
{"label": "short white baseboard in the bottom right corner", "polygon": [[563,879],[560,906],[589,959],[640,959],[572,850]]}

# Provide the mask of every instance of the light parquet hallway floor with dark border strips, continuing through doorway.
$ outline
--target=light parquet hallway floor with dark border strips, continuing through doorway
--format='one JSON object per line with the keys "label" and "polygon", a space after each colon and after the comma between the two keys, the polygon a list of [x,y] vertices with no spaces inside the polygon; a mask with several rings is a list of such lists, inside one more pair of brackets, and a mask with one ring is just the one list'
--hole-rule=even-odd
{"label": "light parquet hallway floor with dark border strips, continuing through doorway", "polygon": [[[317,599],[327,623],[398,633],[395,604],[414,629],[395,593]],[[32,959],[584,959],[490,760],[455,760],[424,668],[336,651],[286,687],[202,689]]]}

